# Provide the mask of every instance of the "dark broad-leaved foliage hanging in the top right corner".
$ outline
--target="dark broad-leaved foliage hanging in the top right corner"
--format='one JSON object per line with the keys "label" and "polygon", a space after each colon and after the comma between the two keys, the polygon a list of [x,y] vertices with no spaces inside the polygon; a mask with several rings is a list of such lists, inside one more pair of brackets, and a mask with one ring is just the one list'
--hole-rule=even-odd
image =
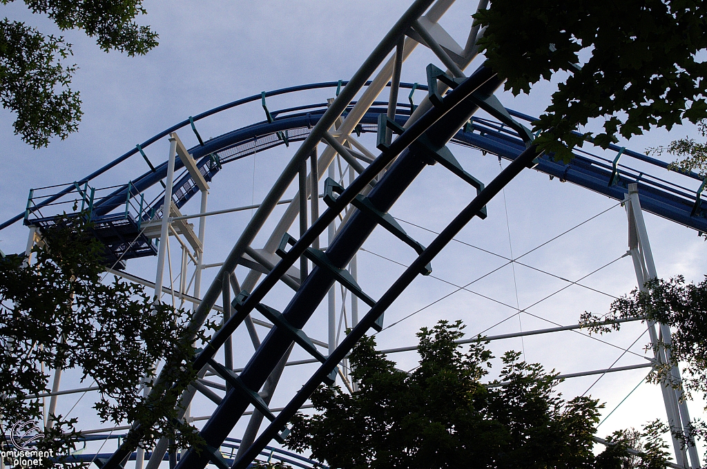
{"label": "dark broad-leaved foliage hanging in the top right corner", "polygon": [[[474,18],[486,27],[480,51],[506,89],[559,81],[534,130],[567,161],[588,139],[607,148],[618,135],[707,117],[706,13],[699,0],[493,0]],[[597,118],[602,132],[584,129]]]}

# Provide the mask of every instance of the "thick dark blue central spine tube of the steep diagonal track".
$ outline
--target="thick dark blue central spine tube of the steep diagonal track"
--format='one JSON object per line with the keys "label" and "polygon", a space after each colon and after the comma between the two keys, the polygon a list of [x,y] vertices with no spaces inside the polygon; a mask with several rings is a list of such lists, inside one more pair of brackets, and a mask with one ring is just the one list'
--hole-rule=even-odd
{"label": "thick dark blue central spine tube of the steep diagonal track", "polygon": [[[479,88],[489,81],[491,76],[489,70],[480,69],[477,74],[469,78],[471,83],[475,81],[478,86],[469,88]],[[500,82],[497,81],[496,86],[498,84]],[[462,101],[428,129],[425,133],[426,137],[433,142],[433,145],[443,146],[476,110],[477,107],[471,100]],[[428,157],[426,158],[428,151],[430,150],[421,144],[412,144],[405,150],[371,190],[368,195],[370,202],[381,212],[387,212],[426,164],[431,162]],[[345,267],[375,226],[375,221],[369,216],[355,212],[327,248],[329,260],[337,267]],[[312,273],[305,279],[283,312],[288,322],[296,328],[302,328],[332,284],[334,284],[334,277],[328,270],[320,267],[313,268]],[[259,390],[291,342],[288,332],[277,327],[273,328],[240,374],[243,383],[250,389]],[[201,429],[200,435],[206,440],[206,444],[220,446],[249,403],[250,401],[238,390],[232,389],[226,393],[221,405],[218,405],[211,419]],[[190,449],[177,467],[203,468],[208,462],[209,458],[204,452],[199,456],[196,451]]]}

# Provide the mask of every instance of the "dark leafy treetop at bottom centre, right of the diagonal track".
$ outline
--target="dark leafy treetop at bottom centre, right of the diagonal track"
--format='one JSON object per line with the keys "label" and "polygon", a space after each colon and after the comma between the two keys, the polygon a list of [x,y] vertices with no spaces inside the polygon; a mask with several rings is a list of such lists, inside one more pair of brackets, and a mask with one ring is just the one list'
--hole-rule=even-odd
{"label": "dark leafy treetop at bottom centre, right of the diagonal track", "polygon": [[[312,395],[315,415],[298,414],[289,448],[310,450],[332,468],[567,468],[619,469],[631,434],[620,432],[597,456],[592,451],[600,404],[589,397],[564,400],[556,374],[539,364],[503,355],[500,376],[489,373],[483,343],[462,352],[460,322],[423,328],[419,367],[410,374],[375,352],[368,337],[351,352],[357,390],[321,386]],[[658,427],[633,467],[658,468],[667,457]],[[633,440],[635,440],[635,435]]]}

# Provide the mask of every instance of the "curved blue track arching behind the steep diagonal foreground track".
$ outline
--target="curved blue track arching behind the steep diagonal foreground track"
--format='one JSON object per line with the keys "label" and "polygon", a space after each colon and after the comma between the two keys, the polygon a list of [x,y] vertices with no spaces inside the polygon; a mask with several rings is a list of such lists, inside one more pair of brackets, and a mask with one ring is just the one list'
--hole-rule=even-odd
{"label": "curved blue track arching behind the steep diagonal foreground track", "polygon": [[[263,96],[271,97],[296,93],[298,91],[337,88],[346,86],[346,83],[346,81],[330,81],[267,91],[262,95],[252,95],[202,112],[194,117],[189,117],[189,119],[183,120],[165,129],[163,132],[156,134],[154,137],[147,139],[139,146],[136,146],[136,148],[127,151],[122,156],[119,156],[119,158],[103,166],[103,168],[96,170],[71,185],[39,188],[51,190],[64,187],[62,190],[52,192],[48,196],[43,197],[40,202],[36,202],[35,197],[30,196],[31,203],[28,204],[25,212],[0,224],[0,230],[23,219],[25,220],[25,224],[30,224],[30,219],[44,219],[45,217],[40,214],[42,208],[57,204],[57,202],[62,200],[62,197],[68,196],[68,198],[73,200],[76,192],[83,197],[82,187],[90,183],[93,179],[103,175],[111,168],[115,168],[119,163],[127,161],[128,158],[141,154],[149,145],[162,139],[171,132],[189,127],[189,125],[192,125],[195,129],[194,122],[198,122],[205,117],[215,115],[218,112],[223,112],[245,103],[261,100]],[[370,85],[370,81],[366,83],[366,85]],[[400,87],[408,89],[415,88],[421,91],[427,91],[428,89],[426,85],[419,83],[400,83]],[[349,105],[349,109],[355,104],[355,101],[352,102],[351,105]],[[404,125],[407,121],[411,113],[411,107],[412,105],[409,103],[397,103],[395,121],[399,125]],[[261,151],[266,151],[274,146],[286,144],[286,141],[280,137],[281,134],[286,133],[288,143],[303,141],[308,136],[310,129],[320,120],[320,117],[322,117],[326,109],[327,103],[315,103],[298,106],[296,108],[277,110],[271,112],[271,116],[273,117],[272,122],[265,120],[233,130],[232,132],[204,141],[203,145],[194,146],[192,149],[189,149],[189,152],[198,160],[197,166],[201,170],[202,175],[204,175],[204,178],[207,181],[211,181],[211,178],[214,178],[214,175],[221,170],[223,164],[245,158],[246,156]],[[507,111],[513,117],[529,124],[536,120],[535,117],[525,115],[515,110],[507,109]],[[386,112],[386,102],[375,102],[374,107],[370,108],[361,120],[361,125],[357,127],[357,131],[359,133],[378,132],[378,116],[381,114],[385,115]],[[344,113],[344,115],[346,115],[346,113]],[[523,144],[518,132],[502,122],[484,117],[472,117],[471,120],[469,120],[469,124],[462,127],[462,129],[452,137],[451,141],[454,144],[479,149],[510,161],[513,161],[522,150],[525,149],[525,144]],[[660,161],[657,158],[651,158],[650,156],[617,145],[610,145],[609,150],[616,151],[617,156],[621,157],[621,159],[615,158],[615,161],[612,161],[611,159],[598,156],[597,154],[592,154],[590,151],[575,149],[574,158],[569,163],[557,162],[554,161],[551,156],[543,155],[539,158],[539,164],[534,169],[546,173],[552,178],[559,178],[559,180],[574,183],[580,187],[598,192],[616,200],[624,199],[629,184],[638,183],[638,190],[641,192],[641,204],[643,209],[647,212],[674,221],[677,224],[694,228],[699,232],[707,232],[707,211],[702,207],[701,203],[701,190],[703,187],[700,187],[699,190],[687,187],[691,185],[691,180],[697,180],[703,183],[703,178],[699,174],[694,172],[675,172],[670,169],[669,163],[665,161]],[[647,163],[648,169],[635,169],[632,167],[631,161],[634,163]],[[183,166],[184,164],[177,160],[175,170],[183,168]],[[635,164],[633,166],[635,166]],[[674,183],[666,180],[665,175],[661,177],[661,173],[667,174],[668,171],[681,175],[684,178],[684,182]],[[94,215],[105,216],[111,212],[119,212],[120,209],[124,209],[124,202],[129,198],[129,192],[133,194],[132,197],[135,197],[135,195],[144,192],[149,187],[160,183],[160,181],[165,178],[166,173],[167,162],[164,161],[154,167],[154,170],[139,175],[129,183],[112,187],[112,192],[93,201]],[[692,185],[695,185],[695,183],[692,183]],[[173,188],[173,201],[176,206],[180,208],[186,204],[193,195],[197,194],[197,192],[199,192],[197,185],[187,173],[181,180],[175,183]],[[85,197],[88,198],[88,194],[86,194]],[[151,205],[145,205],[143,207],[141,215],[146,217],[151,210],[160,205],[161,197],[156,197]],[[52,219],[55,215],[56,214],[51,214],[49,219]],[[156,253],[151,252],[148,254]]]}

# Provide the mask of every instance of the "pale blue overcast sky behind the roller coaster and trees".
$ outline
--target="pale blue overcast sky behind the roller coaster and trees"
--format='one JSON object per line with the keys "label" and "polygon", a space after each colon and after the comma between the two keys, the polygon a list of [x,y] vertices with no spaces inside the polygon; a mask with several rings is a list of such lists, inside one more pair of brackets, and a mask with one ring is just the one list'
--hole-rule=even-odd
{"label": "pale blue overcast sky behind the roller coaster and trees", "polygon": [[[55,140],[47,149],[33,150],[13,135],[13,114],[0,111],[0,139],[3,143],[0,168],[4,176],[0,183],[0,197],[3,200],[0,219],[6,220],[24,209],[30,187],[78,180],[133,148],[136,143],[189,115],[260,91],[349,79],[408,5],[409,1],[392,0],[261,3],[146,1],[148,15],[140,21],[152,25],[159,33],[160,45],[145,57],[137,58],[117,52],[106,54],[81,33],[64,32],[67,40],[74,45],[71,59],[79,67],[73,86],[81,91],[83,100],[81,126],[78,133],[64,141]],[[475,8],[474,1],[458,1],[440,22],[462,45]],[[52,23],[46,18],[29,14],[21,2],[3,6],[2,9],[11,19],[37,25],[45,33],[57,33]],[[404,64],[403,80],[424,82],[424,67],[430,62],[440,66],[428,50],[418,47]],[[479,63],[478,60],[474,62],[468,71]],[[538,115],[547,105],[552,89],[550,83],[541,83],[530,96],[513,98],[508,93],[498,93],[498,96],[509,108]],[[269,100],[269,107],[276,110],[289,105],[320,103],[332,96],[332,90],[301,93]],[[400,96],[400,100],[407,101],[407,92]],[[422,97],[423,93],[416,95],[418,102]],[[216,137],[262,120],[262,108],[259,103],[253,103],[200,122],[199,132],[203,137]],[[189,129],[182,129],[179,134],[187,146],[197,143]],[[644,151],[650,146],[667,144],[670,139],[686,135],[699,137],[694,127],[686,126],[673,129],[670,133],[656,129],[622,144],[636,151]],[[375,146],[370,137],[363,141],[370,148]],[[209,209],[259,202],[293,154],[293,146],[289,149],[281,146],[255,158],[224,166],[211,185]],[[455,146],[451,146],[451,150],[464,168],[484,183],[488,183],[500,170],[494,156],[482,156],[478,151]],[[151,146],[147,154],[153,163],[159,163],[166,159],[167,151],[168,143],[164,140]],[[503,163],[505,165],[506,162]],[[99,187],[101,184],[125,183],[145,170],[147,166],[144,161],[134,157],[97,183]],[[667,173],[655,175],[671,177]],[[689,183],[692,189],[696,189],[697,185],[694,181]],[[433,234],[426,230],[440,231],[473,195],[473,190],[462,181],[444,168],[433,166],[423,171],[391,213],[402,220],[402,225],[412,237],[426,244],[433,238]],[[191,214],[198,208],[198,202],[190,202],[182,212]],[[513,257],[518,257],[602,212],[520,260],[527,266],[547,271],[556,277],[518,264],[514,272],[510,265],[506,265],[469,285],[467,288],[472,291],[457,291],[458,286],[469,284],[505,265],[508,262],[506,258],[511,257],[511,248]],[[281,210],[276,213],[281,213]],[[239,212],[209,219],[206,262],[223,261],[251,214]],[[645,219],[658,274],[661,277],[684,274],[689,280],[703,279],[707,246],[696,232],[650,214],[646,214]],[[271,224],[274,221],[267,226]],[[267,226],[264,231],[267,231]],[[296,232],[296,227],[293,227],[291,233]],[[262,245],[267,234],[259,236],[255,244]],[[24,250],[27,235],[28,229],[21,224],[6,228],[0,232],[0,249],[5,253]],[[569,183],[560,183],[557,179],[550,181],[547,175],[532,170],[525,171],[510,183],[504,194],[498,195],[489,204],[489,217],[484,221],[474,219],[457,236],[457,240],[460,242],[452,242],[433,262],[433,276],[436,278],[417,279],[385,313],[386,325],[400,322],[378,334],[380,348],[415,344],[414,333],[441,318],[464,320],[469,336],[485,330],[488,335],[496,335],[515,332],[519,328],[530,330],[551,327],[555,323],[574,324],[584,311],[605,313],[614,297],[636,286],[630,257],[621,258],[627,249],[624,209],[614,200]],[[407,265],[414,258],[413,253],[405,246],[398,246],[390,235],[380,230],[375,231],[364,248],[366,252],[358,257],[359,283],[370,296],[378,298],[395,279],[394,275],[404,268],[395,262]],[[568,285],[563,279],[578,281],[597,269],[598,272],[579,283],[599,292],[573,285],[554,294]],[[128,270],[153,279],[155,259],[131,261]],[[216,270],[206,272],[205,286],[215,273]],[[243,267],[238,267],[236,273],[240,279],[245,277]],[[286,288],[276,289],[267,299],[271,306],[284,308],[290,294],[291,291]],[[528,308],[546,296],[549,298]],[[518,315],[514,315],[517,313],[514,308],[528,310],[520,315],[519,320]],[[361,306],[361,315],[365,311]],[[403,319],[416,311],[419,312]],[[511,319],[489,329],[508,317]],[[326,340],[324,306],[317,311],[315,320],[310,321],[307,330],[310,335]],[[621,332],[601,337],[604,342],[576,332],[562,332],[527,337],[522,341],[494,342],[492,349],[496,356],[506,349],[522,350],[527,361],[539,361],[547,369],[573,373],[612,366],[626,347],[631,347],[630,352],[624,354],[616,366],[645,362],[640,357],[648,353],[643,350],[648,343],[647,335],[641,336],[644,331],[643,325],[626,325]],[[264,335],[263,331],[261,335]],[[243,366],[252,353],[250,341],[243,331],[235,335],[235,352],[235,366]],[[293,358],[303,357],[300,351],[293,353]],[[397,354],[395,359],[399,361],[400,368],[412,369],[418,357],[410,352]],[[312,369],[293,367],[286,371],[273,407],[286,403],[288,396],[303,383],[305,371]],[[641,382],[647,372],[647,369],[639,369],[607,374],[591,387],[589,393],[606,403],[604,415],[607,415]],[[72,382],[75,377],[71,374],[67,376],[62,388],[78,387],[78,378]],[[571,398],[585,393],[596,379],[597,376],[575,378],[559,387],[566,398]],[[99,424],[91,414],[92,399],[86,395],[69,415],[79,416],[83,428],[97,427]],[[76,398],[66,398],[59,403],[60,412],[67,412],[76,403]],[[704,417],[701,412],[703,405],[701,401],[691,403],[691,412],[695,417]],[[213,407],[199,400],[192,415],[207,415]],[[655,418],[665,419],[660,390],[643,383],[606,423],[602,423],[599,434],[604,436],[615,429],[640,427]],[[242,419],[233,436],[240,436],[245,428],[244,422],[245,419]],[[108,446],[112,451],[115,443]]]}

